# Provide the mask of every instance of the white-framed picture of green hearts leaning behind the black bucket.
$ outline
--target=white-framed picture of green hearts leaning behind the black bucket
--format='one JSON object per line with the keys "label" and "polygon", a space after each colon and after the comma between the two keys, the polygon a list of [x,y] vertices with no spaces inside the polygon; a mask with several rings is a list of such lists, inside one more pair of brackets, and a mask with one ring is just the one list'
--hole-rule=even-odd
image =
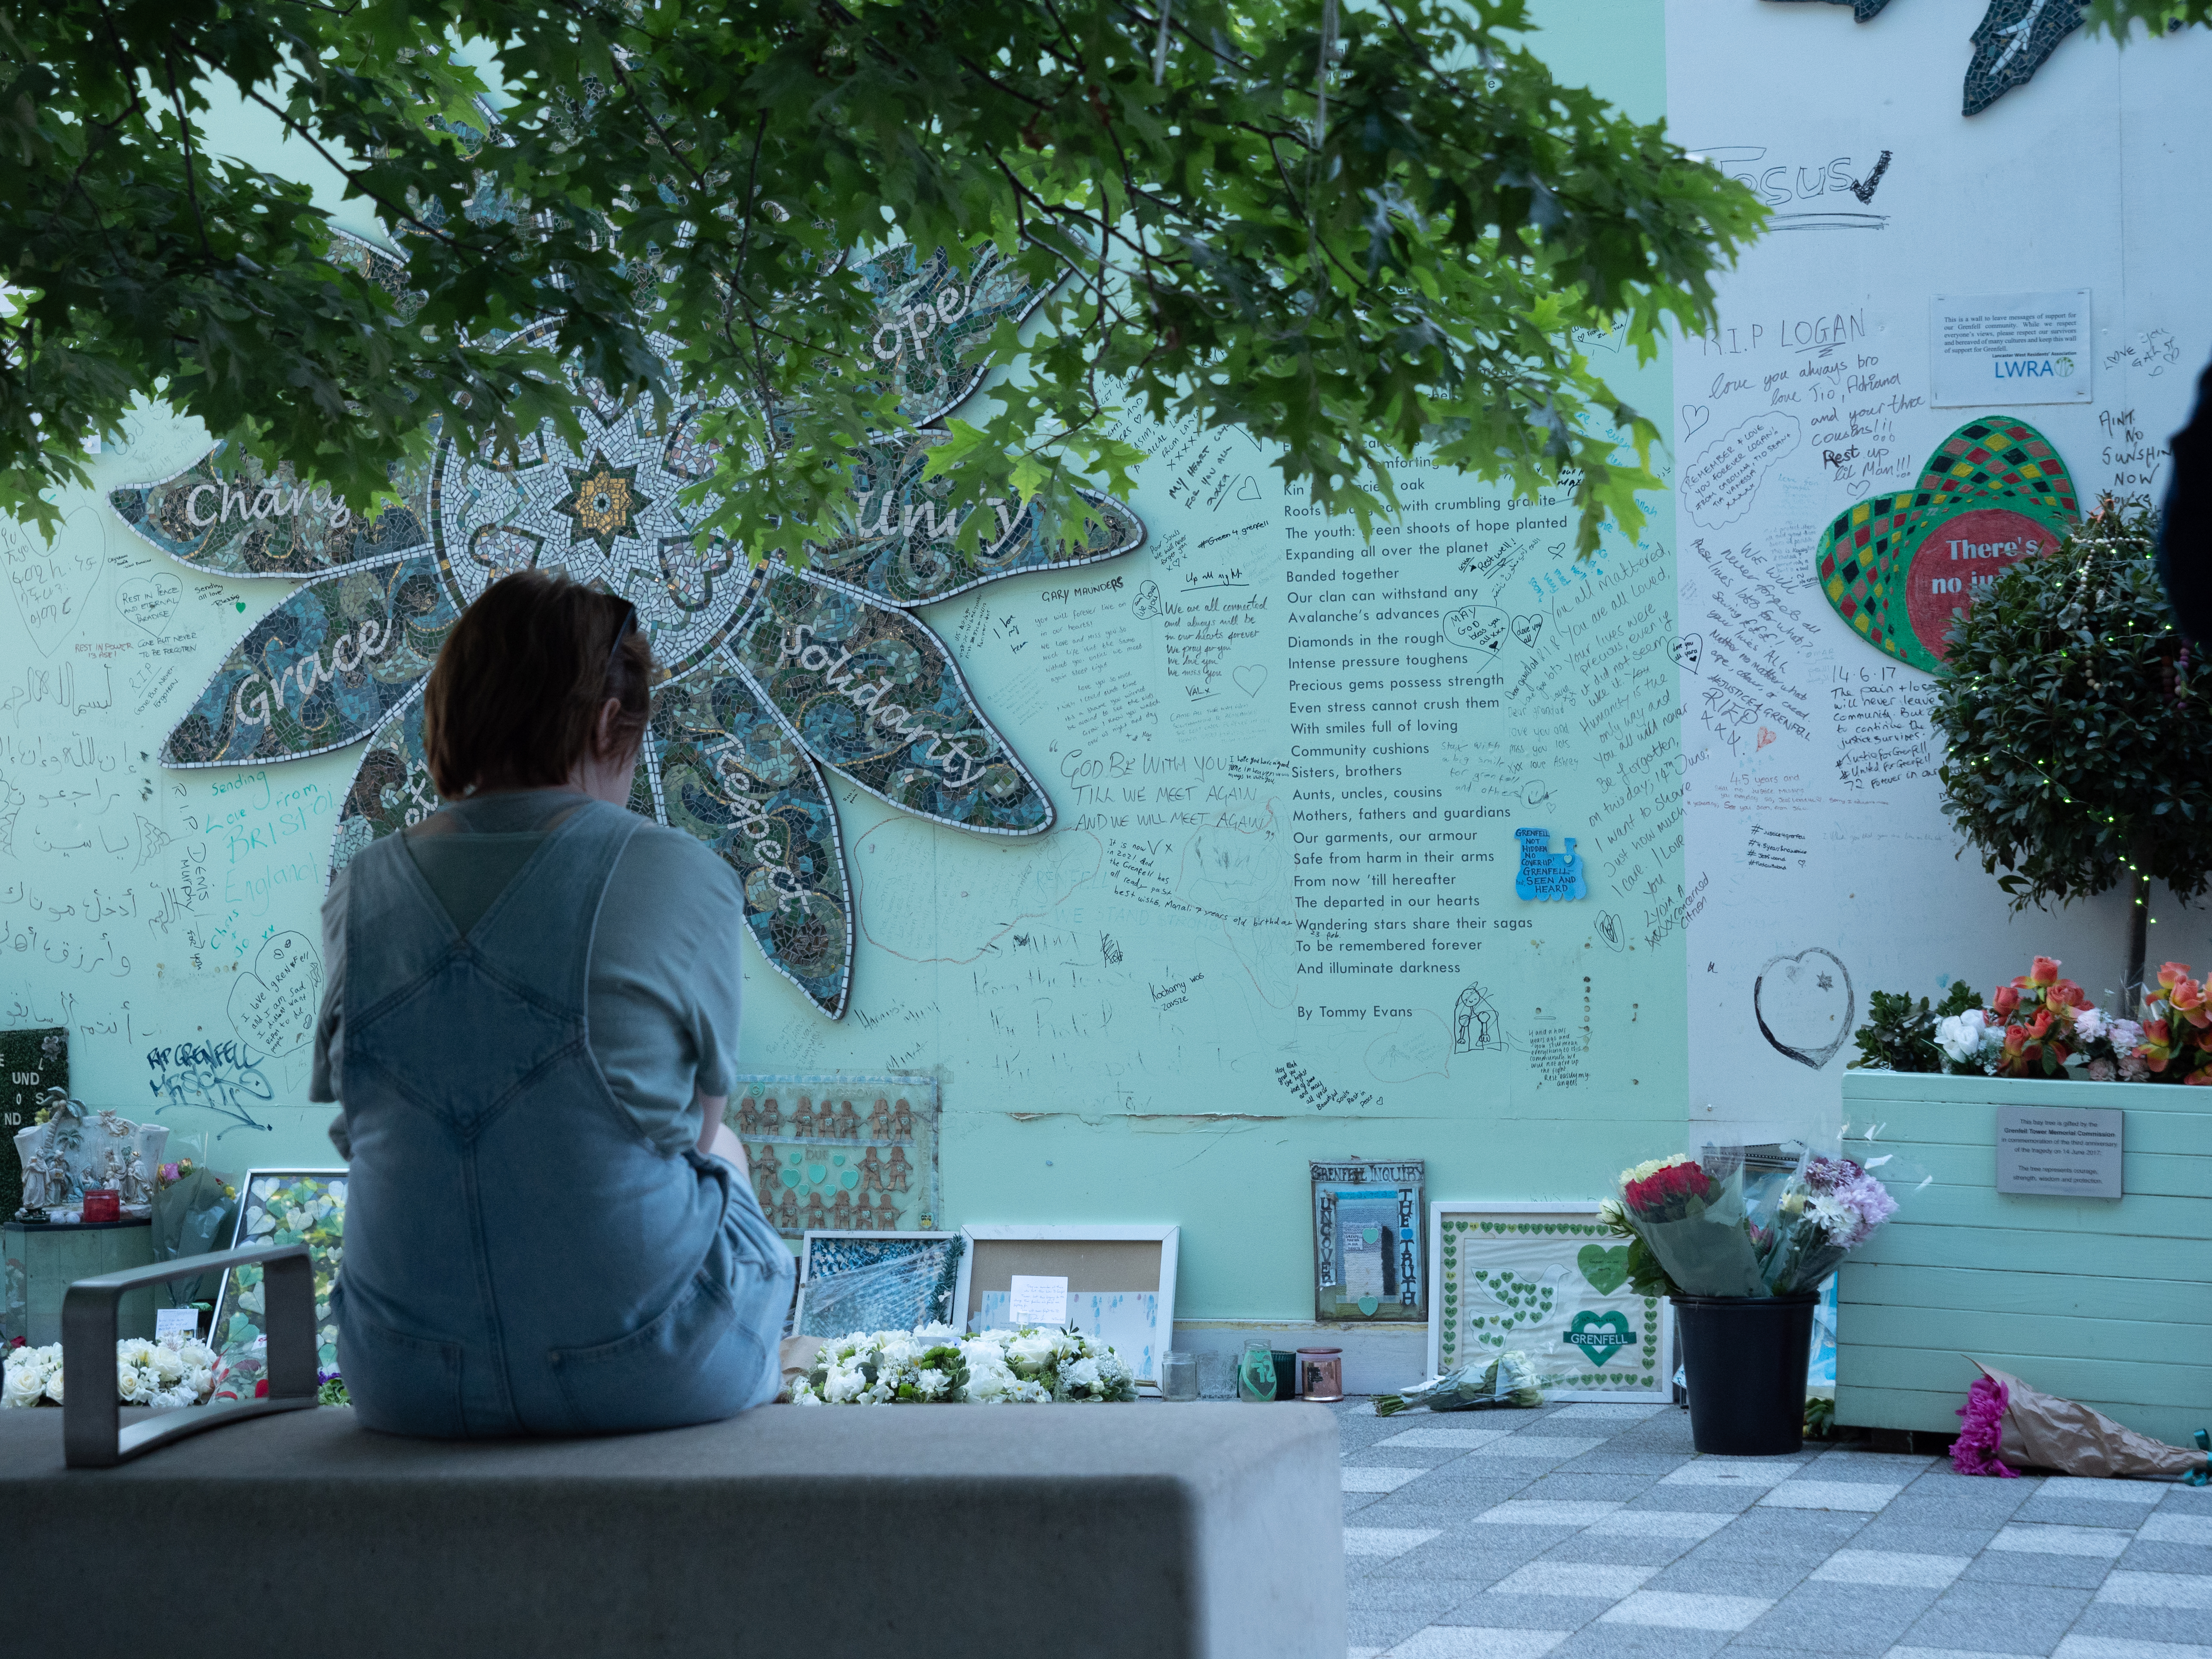
{"label": "white-framed picture of green hearts leaning behind the black bucket", "polygon": [[1548,1400],[1674,1398],[1672,1307],[1628,1290],[1628,1241],[1588,1203],[1433,1203],[1429,1374],[1517,1349]]}

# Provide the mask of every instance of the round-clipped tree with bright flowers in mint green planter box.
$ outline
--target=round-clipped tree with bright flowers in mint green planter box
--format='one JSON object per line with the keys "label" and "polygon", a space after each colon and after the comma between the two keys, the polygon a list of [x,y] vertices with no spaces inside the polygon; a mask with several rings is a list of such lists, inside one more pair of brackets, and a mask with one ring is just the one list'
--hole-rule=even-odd
{"label": "round-clipped tree with bright flowers in mint green planter box", "polygon": [[1843,1115],[1905,1210],[1838,1276],[1838,1422],[1955,1431],[1971,1354],[2194,1433],[2201,1358],[2172,1321],[2201,1279],[2183,1241],[2212,1237],[2212,1091],[2159,1084],[2212,1084],[2212,1009],[2194,971],[2146,958],[2150,883],[2188,900],[2212,878],[2208,692],[2141,502],[2106,498],[1953,626],[1944,805],[2015,909],[2126,891],[2121,1004],[2044,956],[1986,1011],[1878,1009]]}

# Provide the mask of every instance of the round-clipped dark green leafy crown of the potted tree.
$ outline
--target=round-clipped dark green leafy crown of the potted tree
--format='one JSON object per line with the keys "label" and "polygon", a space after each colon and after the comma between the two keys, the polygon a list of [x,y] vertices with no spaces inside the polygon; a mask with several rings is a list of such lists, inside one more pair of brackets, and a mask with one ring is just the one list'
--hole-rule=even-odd
{"label": "round-clipped dark green leafy crown of the potted tree", "polygon": [[2002,571],[1951,633],[1936,726],[1944,812],[2013,909],[2212,880],[2212,721],[2152,564],[2148,502],[2115,502]]}

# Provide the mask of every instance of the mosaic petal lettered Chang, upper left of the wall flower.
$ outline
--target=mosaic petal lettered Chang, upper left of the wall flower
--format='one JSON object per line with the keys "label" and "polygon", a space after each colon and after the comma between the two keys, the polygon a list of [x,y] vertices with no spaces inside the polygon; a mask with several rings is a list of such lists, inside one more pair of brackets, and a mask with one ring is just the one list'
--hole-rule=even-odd
{"label": "mosaic petal lettered Chang, upper left of the wall flower", "polygon": [[305,577],[349,564],[403,557],[429,540],[425,487],[403,484],[405,502],[374,520],[301,489],[290,467],[274,476],[252,456],[223,465],[217,445],[175,478],[108,491],[117,518],[188,571]]}

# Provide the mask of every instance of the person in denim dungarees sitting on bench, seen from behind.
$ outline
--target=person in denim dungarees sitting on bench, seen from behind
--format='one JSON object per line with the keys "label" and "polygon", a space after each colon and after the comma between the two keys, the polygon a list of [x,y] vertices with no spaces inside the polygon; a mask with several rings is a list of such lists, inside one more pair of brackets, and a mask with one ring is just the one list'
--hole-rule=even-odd
{"label": "person in denim dungarees sitting on bench, seen from behind", "polygon": [[792,1256],[721,1121],[743,889],[624,810],[653,675],[626,599],[495,582],[422,695],[445,805],[332,880],[310,1099],[343,1104],[332,1312],[369,1429],[661,1429],[781,1387]]}

